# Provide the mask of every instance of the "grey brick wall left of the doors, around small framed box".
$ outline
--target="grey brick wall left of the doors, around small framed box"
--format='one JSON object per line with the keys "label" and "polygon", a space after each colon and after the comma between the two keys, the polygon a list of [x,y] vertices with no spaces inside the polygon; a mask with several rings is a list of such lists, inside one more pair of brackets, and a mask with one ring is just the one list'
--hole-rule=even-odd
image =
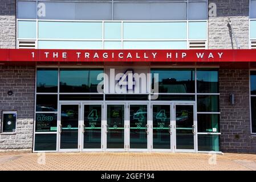
{"label": "grey brick wall left of the doors, around small framed box", "polygon": [[[8,96],[9,90],[12,96]],[[34,92],[35,67],[0,65],[0,119],[2,110],[17,110],[17,132],[0,134],[0,150],[32,148]]]}

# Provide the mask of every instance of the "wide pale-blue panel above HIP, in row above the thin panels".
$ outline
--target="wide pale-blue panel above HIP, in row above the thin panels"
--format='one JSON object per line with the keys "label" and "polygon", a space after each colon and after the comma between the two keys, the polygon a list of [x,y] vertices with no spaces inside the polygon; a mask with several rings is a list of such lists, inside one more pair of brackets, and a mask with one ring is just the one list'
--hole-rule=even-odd
{"label": "wide pale-blue panel above HIP, in row above the thin panels", "polygon": [[186,39],[186,22],[124,22],[124,39]]}

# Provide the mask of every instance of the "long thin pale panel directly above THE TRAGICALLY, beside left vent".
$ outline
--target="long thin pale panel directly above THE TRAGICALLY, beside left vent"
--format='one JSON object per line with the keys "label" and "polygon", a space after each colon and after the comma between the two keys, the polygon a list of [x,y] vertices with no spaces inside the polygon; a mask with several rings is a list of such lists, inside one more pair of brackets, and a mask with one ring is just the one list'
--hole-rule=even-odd
{"label": "long thin pale panel directly above THE TRAGICALLY, beside left vent", "polygon": [[38,40],[39,49],[102,49],[101,41]]}

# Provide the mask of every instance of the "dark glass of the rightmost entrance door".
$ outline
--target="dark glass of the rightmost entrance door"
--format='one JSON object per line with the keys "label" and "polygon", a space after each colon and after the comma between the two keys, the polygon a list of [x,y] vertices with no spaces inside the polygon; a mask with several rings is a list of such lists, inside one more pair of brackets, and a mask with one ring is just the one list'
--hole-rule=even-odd
{"label": "dark glass of the rightmost entrance door", "polygon": [[176,148],[194,149],[192,105],[176,105]]}

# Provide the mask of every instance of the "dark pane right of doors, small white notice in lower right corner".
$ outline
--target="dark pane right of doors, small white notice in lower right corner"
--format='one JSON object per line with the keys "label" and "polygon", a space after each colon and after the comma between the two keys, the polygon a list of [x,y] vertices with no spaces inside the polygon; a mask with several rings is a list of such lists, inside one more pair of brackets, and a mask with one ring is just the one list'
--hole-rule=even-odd
{"label": "dark pane right of doors, small white notice in lower right corner", "polygon": [[200,133],[218,133],[219,114],[197,114],[197,131]]}

